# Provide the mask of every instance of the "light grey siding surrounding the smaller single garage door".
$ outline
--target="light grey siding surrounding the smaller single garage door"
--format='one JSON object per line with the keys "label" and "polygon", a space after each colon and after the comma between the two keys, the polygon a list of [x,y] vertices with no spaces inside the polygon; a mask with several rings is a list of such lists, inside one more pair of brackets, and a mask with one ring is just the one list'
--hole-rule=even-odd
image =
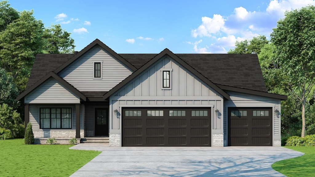
{"label": "light grey siding surrounding the smaller single garage door", "polygon": [[227,146],[228,134],[228,107],[271,107],[272,108],[272,123],[273,123],[273,142],[281,140],[281,117],[276,115],[274,110],[278,109],[281,112],[281,100],[276,98],[269,98],[264,96],[257,96],[252,94],[245,94],[233,91],[226,91],[230,95],[230,100],[224,100],[224,146]]}

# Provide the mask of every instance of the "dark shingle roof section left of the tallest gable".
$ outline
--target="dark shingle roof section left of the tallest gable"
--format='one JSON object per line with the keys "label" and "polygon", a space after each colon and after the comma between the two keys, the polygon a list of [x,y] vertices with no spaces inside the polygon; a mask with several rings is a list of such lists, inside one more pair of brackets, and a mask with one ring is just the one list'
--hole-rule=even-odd
{"label": "dark shingle roof section left of the tallest gable", "polygon": [[56,70],[75,54],[37,54],[26,89],[46,76],[50,71]]}

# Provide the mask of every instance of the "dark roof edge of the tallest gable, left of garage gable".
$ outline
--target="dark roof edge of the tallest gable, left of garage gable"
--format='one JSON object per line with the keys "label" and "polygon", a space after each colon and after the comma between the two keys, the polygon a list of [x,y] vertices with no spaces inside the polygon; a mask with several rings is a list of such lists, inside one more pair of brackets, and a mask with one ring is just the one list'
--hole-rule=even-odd
{"label": "dark roof edge of the tallest gable, left of garage gable", "polygon": [[74,55],[70,60],[66,61],[64,64],[62,64],[59,68],[57,68],[54,72],[59,73],[61,70],[65,69],[68,65],[70,65],[72,62],[77,60],[80,56],[85,54],[87,51],[89,51],[94,46],[100,46],[101,48],[105,49],[107,52],[112,54],[117,60],[128,66],[131,70],[136,71],[137,68],[133,65],[131,65],[127,60],[123,59],[119,54],[117,54],[114,50],[109,48],[107,45],[102,43],[99,39],[95,39],[92,43],[90,43],[88,46],[86,46],[84,49],[82,49],[80,52],[78,52],[76,55]]}

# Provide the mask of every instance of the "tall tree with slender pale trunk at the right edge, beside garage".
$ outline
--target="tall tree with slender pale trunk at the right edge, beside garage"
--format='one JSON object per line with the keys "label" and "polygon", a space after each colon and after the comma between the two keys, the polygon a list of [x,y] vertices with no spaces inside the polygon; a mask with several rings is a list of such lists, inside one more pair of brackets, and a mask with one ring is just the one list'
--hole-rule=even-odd
{"label": "tall tree with slender pale trunk at the right edge, beside garage", "polygon": [[315,85],[315,7],[286,11],[271,33],[287,89],[302,103],[302,132],[305,136],[306,101]]}

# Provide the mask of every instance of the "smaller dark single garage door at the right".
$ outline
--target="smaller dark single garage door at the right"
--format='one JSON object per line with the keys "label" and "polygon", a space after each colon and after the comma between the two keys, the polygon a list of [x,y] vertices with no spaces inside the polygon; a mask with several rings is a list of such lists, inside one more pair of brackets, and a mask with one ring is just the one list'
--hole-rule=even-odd
{"label": "smaller dark single garage door at the right", "polygon": [[228,146],[272,146],[272,108],[229,108]]}

